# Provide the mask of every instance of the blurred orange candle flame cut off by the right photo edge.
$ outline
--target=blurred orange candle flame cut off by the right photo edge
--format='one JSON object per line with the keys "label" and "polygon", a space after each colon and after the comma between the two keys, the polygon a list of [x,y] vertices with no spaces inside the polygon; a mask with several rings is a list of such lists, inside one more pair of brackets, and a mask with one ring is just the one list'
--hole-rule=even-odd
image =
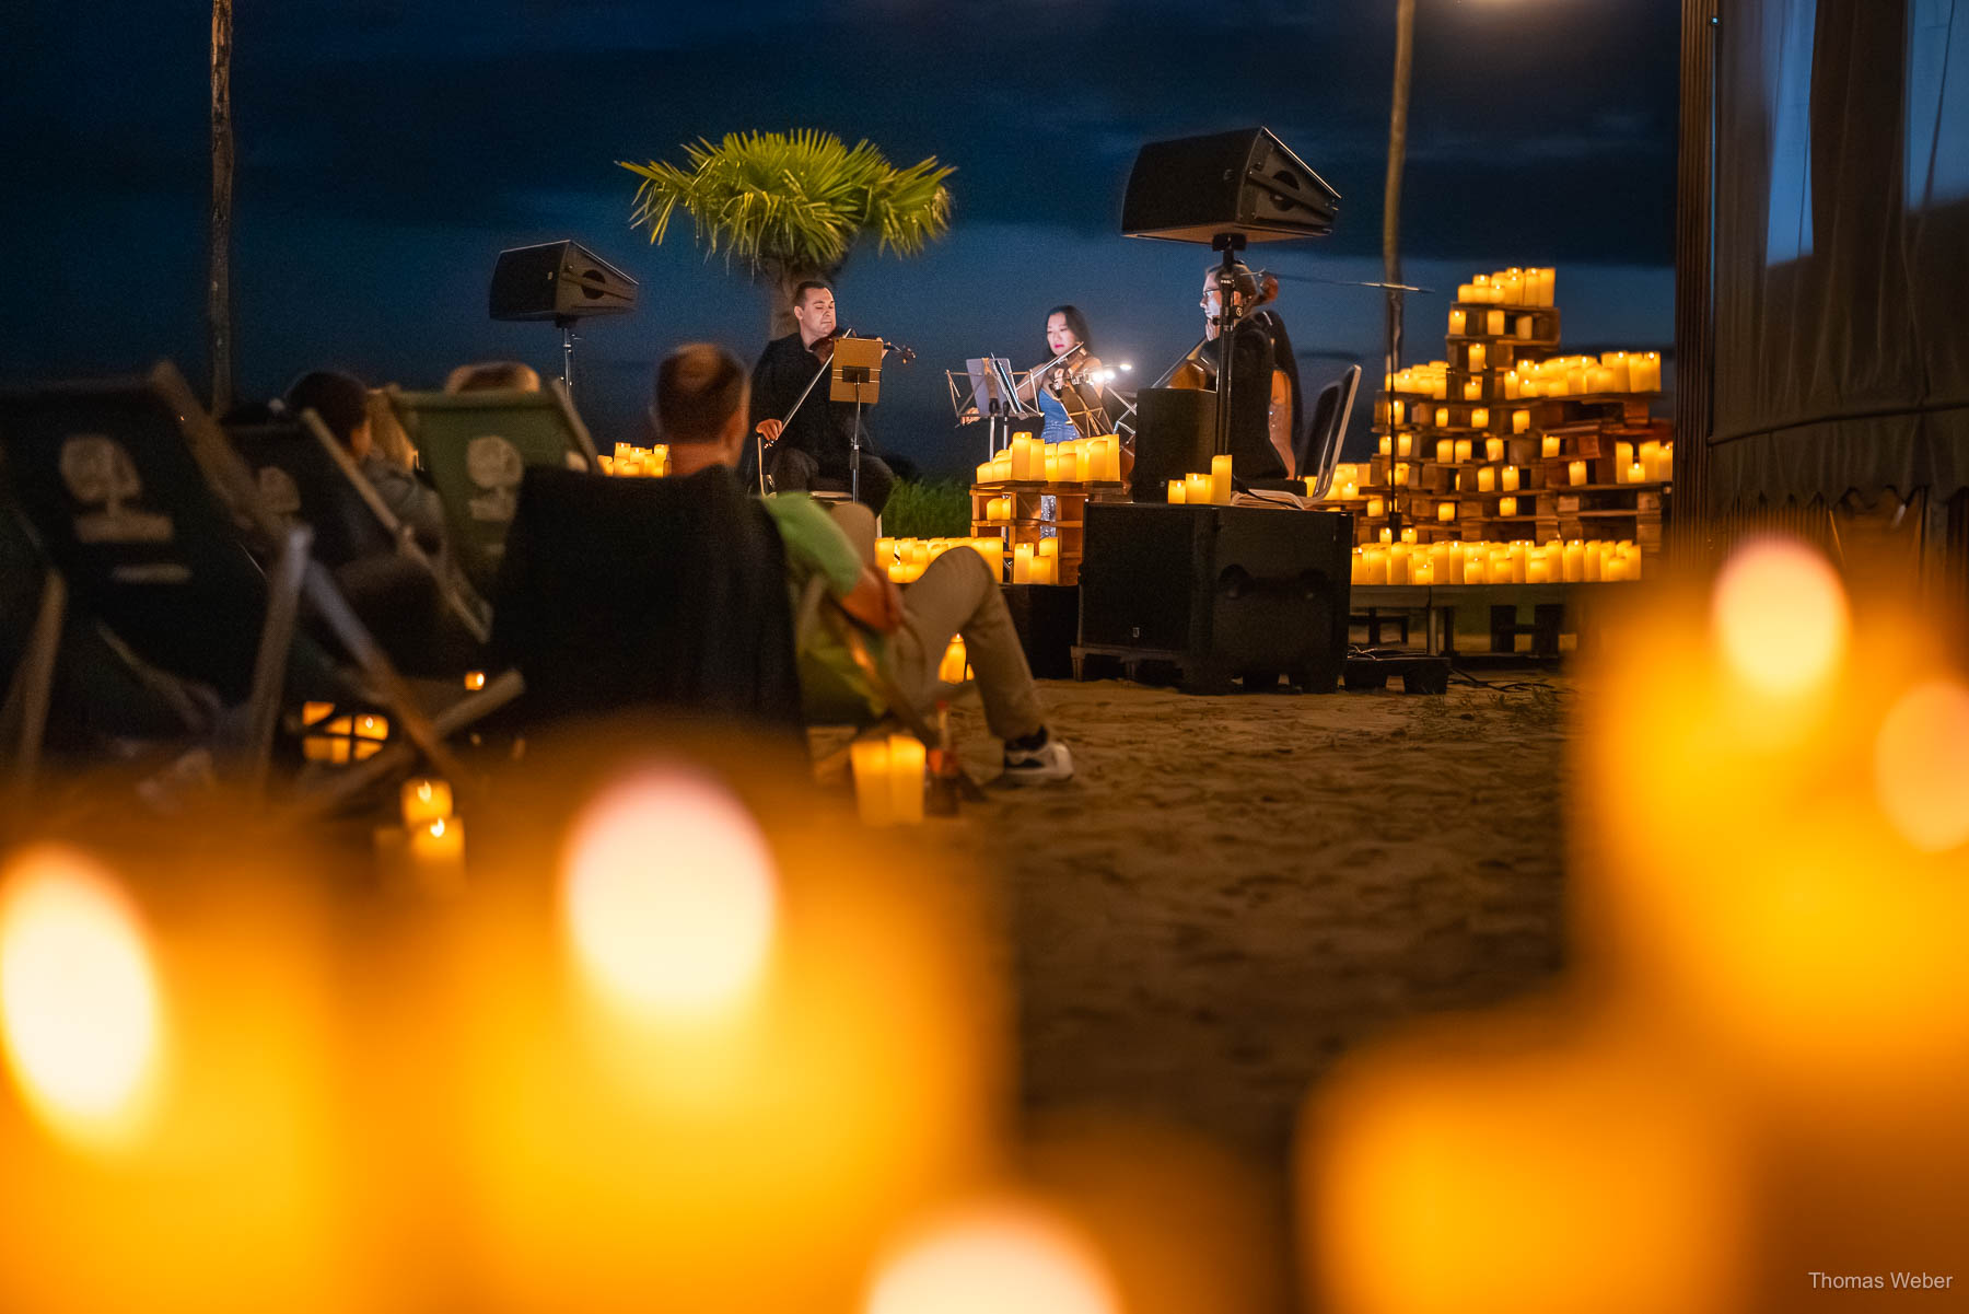
{"label": "blurred orange candle flame cut off by the right photo edge", "polygon": [[1969,690],[1932,680],[1900,697],[1874,739],[1886,820],[1922,853],[1969,841]]}

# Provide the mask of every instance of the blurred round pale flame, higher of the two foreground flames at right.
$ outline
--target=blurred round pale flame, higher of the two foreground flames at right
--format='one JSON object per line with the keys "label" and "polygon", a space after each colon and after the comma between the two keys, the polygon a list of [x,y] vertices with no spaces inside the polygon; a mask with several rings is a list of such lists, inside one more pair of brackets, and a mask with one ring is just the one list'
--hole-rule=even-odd
{"label": "blurred round pale flame, higher of the two foreground flames at right", "polygon": [[1711,626],[1729,670],[1758,693],[1798,697],[1847,646],[1847,601],[1825,558],[1788,540],[1743,548],[1717,581]]}

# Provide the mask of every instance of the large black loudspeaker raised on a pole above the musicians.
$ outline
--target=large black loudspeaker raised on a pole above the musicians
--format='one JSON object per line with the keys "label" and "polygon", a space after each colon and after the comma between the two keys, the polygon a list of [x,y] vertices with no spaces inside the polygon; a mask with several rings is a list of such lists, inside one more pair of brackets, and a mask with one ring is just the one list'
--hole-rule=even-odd
{"label": "large black loudspeaker raised on a pole above the musicians", "polygon": [[1333,232],[1341,193],[1266,128],[1150,142],[1134,158],[1120,230],[1172,242],[1242,232],[1284,242]]}

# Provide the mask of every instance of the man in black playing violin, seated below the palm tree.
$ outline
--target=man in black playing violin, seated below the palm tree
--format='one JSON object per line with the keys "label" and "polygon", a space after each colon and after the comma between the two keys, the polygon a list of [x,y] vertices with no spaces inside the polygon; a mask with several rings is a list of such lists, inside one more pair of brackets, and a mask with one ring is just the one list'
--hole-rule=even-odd
{"label": "man in black playing violin, seated below the palm tree", "polygon": [[[827,378],[786,422],[799,394],[825,370],[833,357],[835,292],[807,280],[794,290],[794,323],[786,337],[766,343],[752,368],[752,429],[766,439],[766,473],[780,493],[849,489],[849,461],[855,437],[855,404],[829,402]],[[860,500],[882,514],[896,473],[870,449],[866,412],[862,416]]]}

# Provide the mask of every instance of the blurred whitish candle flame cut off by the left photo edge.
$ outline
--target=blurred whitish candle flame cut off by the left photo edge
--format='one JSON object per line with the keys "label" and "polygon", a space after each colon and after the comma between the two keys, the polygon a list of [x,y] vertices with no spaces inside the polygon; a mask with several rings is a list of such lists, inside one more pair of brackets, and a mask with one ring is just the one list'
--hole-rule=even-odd
{"label": "blurred whitish candle flame cut off by the left photo edge", "polygon": [[33,1109],[104,1145],[142,1121],[161,1048],[158,985],[136,912],[73,849],[32,849],[0,887],[0,1034]]}

